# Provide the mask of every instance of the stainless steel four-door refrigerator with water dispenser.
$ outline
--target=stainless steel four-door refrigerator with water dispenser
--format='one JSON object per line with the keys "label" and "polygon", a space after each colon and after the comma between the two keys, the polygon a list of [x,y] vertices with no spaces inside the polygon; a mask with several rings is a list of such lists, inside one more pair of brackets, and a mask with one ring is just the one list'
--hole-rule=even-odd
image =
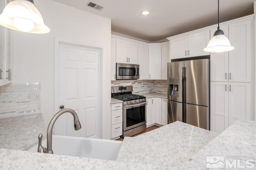
{"label": "stainless steel four-door refrigerator with water dispenser", "polygon": [[209,59],[168,63],[168,123],[210,130]]}

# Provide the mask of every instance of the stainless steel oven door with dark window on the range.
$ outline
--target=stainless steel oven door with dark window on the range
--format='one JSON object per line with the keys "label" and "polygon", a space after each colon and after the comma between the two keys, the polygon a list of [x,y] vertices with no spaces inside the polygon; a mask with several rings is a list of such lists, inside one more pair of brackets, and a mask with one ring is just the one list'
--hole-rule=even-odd
{"label": "stainless steel oven door with dark window on the range", "polygon": [[146,124],[146,102],[124,106],[124,131]]}

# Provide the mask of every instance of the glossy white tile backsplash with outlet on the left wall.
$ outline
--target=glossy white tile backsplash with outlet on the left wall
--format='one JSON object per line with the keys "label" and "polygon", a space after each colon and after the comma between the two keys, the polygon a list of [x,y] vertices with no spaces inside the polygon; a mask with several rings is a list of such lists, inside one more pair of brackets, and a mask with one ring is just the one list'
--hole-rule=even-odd
{"label": "glossy white tile backsplash with outlet on the left wall", "polygon": [[0,86],[0,118],[40,113],[41,96],[41,83]]}

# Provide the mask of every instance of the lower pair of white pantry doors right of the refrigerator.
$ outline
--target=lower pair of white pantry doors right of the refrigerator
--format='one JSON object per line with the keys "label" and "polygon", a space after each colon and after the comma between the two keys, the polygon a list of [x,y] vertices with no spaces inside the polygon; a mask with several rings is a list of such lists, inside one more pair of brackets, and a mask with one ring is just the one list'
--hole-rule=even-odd
{"label": "lower pair of white pantry doors right of the refrigerator", "polygon": [[222,133],[238,119],[251,120],[251,83],[210,83],[210,130]]}

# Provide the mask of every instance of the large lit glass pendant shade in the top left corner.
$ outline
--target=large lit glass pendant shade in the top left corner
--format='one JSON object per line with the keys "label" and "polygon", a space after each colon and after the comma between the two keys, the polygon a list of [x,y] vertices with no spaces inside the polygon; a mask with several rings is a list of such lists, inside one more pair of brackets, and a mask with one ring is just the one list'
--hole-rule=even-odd
{"label": "large lit glass pendant shade in the top left corner", "polygon": [[0,15],[0,25],[26,33],[48,33],[43,18],[33,0],[14,0],[6,5]]}

